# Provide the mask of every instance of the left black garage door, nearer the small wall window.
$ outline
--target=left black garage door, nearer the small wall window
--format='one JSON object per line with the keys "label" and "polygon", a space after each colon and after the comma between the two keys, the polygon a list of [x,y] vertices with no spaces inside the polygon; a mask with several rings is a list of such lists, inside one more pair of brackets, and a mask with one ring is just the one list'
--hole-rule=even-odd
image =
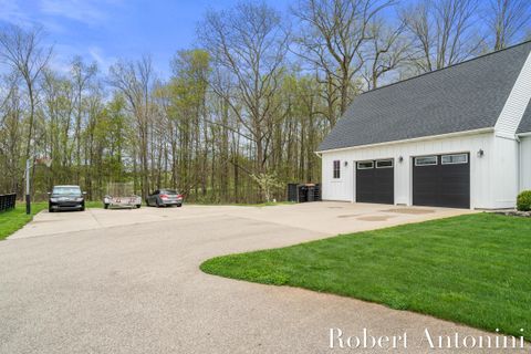
{"label": "left black garage door, nearer the small wall window", "polygon": [[356,164],[356,201],[394,204],[393,159],[367,160]]}

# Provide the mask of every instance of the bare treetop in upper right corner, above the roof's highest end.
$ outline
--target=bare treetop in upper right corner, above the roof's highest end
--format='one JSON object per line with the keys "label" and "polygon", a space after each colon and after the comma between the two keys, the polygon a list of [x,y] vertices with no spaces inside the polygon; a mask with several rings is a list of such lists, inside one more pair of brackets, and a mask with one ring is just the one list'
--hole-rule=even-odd
{"label": "bare treetop in upper right corner, above the roof's highest end", "polygon": [[491,0],[490,8],[489,27],[494,34],[494,50],[503,49],[525,34],[522,32],[531,19],[529,0]]}

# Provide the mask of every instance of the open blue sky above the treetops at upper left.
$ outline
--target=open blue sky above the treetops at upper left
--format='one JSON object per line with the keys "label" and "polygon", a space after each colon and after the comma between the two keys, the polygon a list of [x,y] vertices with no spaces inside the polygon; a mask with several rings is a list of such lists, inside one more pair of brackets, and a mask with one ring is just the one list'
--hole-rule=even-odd
{"label": "open blue sky above the treetops at upper left", "polygon": [[[162,79],[179,49],[196,43],[206,11],[229,9],[238,0],[0,0],[0,24],[41,25],[53,44],[52,67],[67,70],[74,55],[96,62],[105,73],[118,59],[152,55]],[[268,0],[288,11],[290,0]]]}

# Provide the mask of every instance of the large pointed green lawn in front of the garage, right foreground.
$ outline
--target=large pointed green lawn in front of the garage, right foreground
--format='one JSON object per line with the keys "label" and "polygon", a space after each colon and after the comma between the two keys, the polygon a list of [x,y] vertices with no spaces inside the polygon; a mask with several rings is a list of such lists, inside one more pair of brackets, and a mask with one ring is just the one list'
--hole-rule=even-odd
{"label": "large pointed green lawn in front of the garage, right foreground", "polygon": [[493,214],[210,259],[227,278],[335,293],[531,339],[531,219]]}

